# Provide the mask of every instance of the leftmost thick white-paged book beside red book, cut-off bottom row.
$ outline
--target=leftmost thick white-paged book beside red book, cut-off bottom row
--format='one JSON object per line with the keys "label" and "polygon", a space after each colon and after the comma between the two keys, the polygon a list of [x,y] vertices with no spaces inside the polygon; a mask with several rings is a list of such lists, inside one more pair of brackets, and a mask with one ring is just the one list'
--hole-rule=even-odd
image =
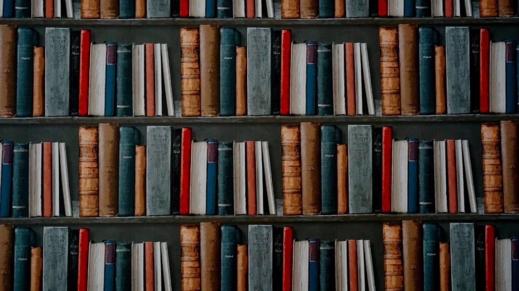
{"label": "leftmost thick white-paged book beside red book, cut-off bottom row", "polygon": [[104,252],[104,242],[90,242],[88,248],[88,291],[104,290]]}

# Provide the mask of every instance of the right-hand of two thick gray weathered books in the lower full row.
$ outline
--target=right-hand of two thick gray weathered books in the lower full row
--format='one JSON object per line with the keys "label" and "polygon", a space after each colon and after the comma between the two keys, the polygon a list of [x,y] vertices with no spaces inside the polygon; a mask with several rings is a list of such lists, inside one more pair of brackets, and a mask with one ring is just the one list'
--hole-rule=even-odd
{"label": "right-hand of two thick gray weathered books in the lower full row", "polygon": [[351,214],[373,212],[371,125],[348,125],[348,193]]}

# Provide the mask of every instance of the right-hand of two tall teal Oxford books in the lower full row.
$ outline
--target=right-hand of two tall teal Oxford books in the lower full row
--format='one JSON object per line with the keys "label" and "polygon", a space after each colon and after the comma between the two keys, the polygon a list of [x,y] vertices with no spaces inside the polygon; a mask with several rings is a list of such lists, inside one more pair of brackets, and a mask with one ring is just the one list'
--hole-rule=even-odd
{"label": "right-hand of two tall teal Oxford books in the lower full row", "polygon": [[322,214],[337,214],[337,134],[333,125],[321,125]]}

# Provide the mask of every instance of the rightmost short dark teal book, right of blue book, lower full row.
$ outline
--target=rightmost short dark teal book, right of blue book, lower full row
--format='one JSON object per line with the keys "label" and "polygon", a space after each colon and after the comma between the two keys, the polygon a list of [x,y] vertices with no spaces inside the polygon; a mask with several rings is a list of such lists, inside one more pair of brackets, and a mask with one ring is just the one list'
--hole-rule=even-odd
{"label": "rightmost short dark teal book, right of blue book, lower full row", "polygon": [[434,213],[434,150],[432,140],[418,143],[418,196],[420,213]]}

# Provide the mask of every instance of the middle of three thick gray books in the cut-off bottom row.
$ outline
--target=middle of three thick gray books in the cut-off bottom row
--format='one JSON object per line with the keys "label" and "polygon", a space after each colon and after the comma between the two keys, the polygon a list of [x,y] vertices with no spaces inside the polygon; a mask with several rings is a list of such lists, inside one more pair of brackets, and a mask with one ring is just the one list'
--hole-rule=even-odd
{"label": "middle of three thick gray books in the cut-off bottom row", "polygon": [[272,291],[271,225],[249,225],[249,290]]}

